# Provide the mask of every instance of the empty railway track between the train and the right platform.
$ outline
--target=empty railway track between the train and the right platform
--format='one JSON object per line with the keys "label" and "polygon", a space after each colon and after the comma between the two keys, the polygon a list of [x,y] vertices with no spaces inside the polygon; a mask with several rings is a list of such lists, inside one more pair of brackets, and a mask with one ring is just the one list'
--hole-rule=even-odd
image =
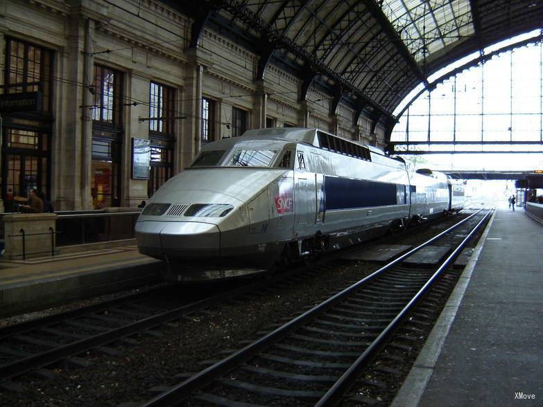
{"label": "empty railway track between the train and the right platform", "polygon": [[[180,374],[181,383],[144,406],[338,404],[352,386],[368,384],[361,374],[492,211],[480,212],[241,350],[220,361],[207,361],[209,367],[201,372]],[[451,246],[440,264],[431,268],[407,264],[438,239],[447,239]],[[409,335],[404,338],[408,341]]]}

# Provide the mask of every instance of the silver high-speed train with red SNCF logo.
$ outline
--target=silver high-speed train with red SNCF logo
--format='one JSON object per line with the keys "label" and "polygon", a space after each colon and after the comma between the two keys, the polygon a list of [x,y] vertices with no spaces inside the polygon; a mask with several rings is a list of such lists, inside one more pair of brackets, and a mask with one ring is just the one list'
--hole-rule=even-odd
{"label": "silver high-speed train with red SNCF logo", "polygon": [[319,129],[257,129],[202,148],[136,224],[168,280],[266,271],[459,210],[463,186]]}

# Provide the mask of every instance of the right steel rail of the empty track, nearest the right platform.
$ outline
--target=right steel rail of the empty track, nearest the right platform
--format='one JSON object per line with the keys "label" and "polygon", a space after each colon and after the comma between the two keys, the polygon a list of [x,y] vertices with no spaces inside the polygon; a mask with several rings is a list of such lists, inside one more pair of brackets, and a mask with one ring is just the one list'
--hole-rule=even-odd
{"label": "right steel rail of the empty track, nearest the right platform", "polygon": [[442,262],[442,264],[439,266],[439,268],[436,270],[435,273],[431,276],[431,278],[422,286],[422,288],[413,296],[413,298],[407,303],[407,305],[402,309],[402,311],[399,312],[399,314],[390,322],[390,324],[387,325],[385,329],[383,329],[383,332],[375,338],[375,340],[371,343],[371,345],[366,348],[366,350],[359,356],[356,361],[348,368],[345,373],[334,383],[333,386],[325,393],[324,396],[315,404],[315,407],[328,407],[328,406],[336,406],[341,401],[343,395],[345,395],[345,392],[350,390],[350,388],[354,385],[356,382],[356,379],[358,379],[359,375],[365,369],[374,359],[375,356],[377,356],[377,353],[383,345],[388,341],[388,338],[392,336],[396,330],[398,329],[399,325],[403,322],[404,318],[408,315],[408,313],[413,309],[415,304],[420,300],[422,296],[428,291],[429,287],[436,282],[436,280],[440,277],[442,271],[449,266],[449,263],[454,260],[456,255],[460,253],[460,251],[464,248],[464,246],[467,244],[469,239],[474,235],[476,230],[479,229],[479,227],[483,224],[485,219],[492,213],[492,209],[488,210],[488,212],[485,214],[483,219],[479,221],[478,224],[472,229],[471,232],[463,239],[462,242],[456,247],[456,249],[447,257],[447,259]]}

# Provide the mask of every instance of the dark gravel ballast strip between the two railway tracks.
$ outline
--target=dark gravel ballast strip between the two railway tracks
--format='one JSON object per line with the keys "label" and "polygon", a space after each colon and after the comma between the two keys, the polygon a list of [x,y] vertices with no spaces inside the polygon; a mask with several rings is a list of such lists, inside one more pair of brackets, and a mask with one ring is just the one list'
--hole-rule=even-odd
{"label": "dark gravel ballast strip between the two railway tracks", "polygon": [[[442,228],[458,221],[451,217]],[[435,233],[435,228],[430,233]],[[410,237],[410,240],[414,239]],[[417,239],[420,242],[420,237]],[[402,240],[403,243],[403,240]],[[414,242],[409,242],[413,244]],[[239,342],[254,339],[257,332],[273,330],[285,318],[299,315],[379,266],[367,262],[345,263],[322,271],[287,287],[255,293],[252,299],[236,299],[177,323],[157,329],[162,336],[134,337],[136,344],[114,346],[120,356],[87,352],[88,368],[69,369],[59,365],[55,379],[19,381],[22,392],[0,389],[0,406],[117,406],[141,403],[153,397],[154,386],[173,386],[182,372],[198,372],[202,361],[222,359],[223,351],[242,347]]]}

